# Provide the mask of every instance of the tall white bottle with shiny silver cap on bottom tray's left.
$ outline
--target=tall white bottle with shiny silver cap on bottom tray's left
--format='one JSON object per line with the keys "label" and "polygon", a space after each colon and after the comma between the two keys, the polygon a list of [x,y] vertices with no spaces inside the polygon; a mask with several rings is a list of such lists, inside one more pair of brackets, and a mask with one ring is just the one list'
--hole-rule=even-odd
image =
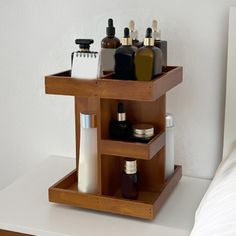
{"label": "tall white bottle with shiny silver cap on bottom tray's left", "polygon": [[97,117],[96,114],[80,113],[78,166],[78,190],[80,192],[98,192],[97,168]]}

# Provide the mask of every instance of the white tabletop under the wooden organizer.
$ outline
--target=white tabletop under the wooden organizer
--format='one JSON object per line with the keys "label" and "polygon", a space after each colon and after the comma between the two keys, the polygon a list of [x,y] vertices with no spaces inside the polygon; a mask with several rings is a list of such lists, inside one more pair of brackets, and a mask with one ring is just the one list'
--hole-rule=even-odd
{"label": "white tabletop under the wooden organizer", "polygon": [[48,188],[75,167],[75,159],[49,157],[0,191],[0,229],[45,236],[189,235],[210,181],[183,176],[153,221],[48,202]]}

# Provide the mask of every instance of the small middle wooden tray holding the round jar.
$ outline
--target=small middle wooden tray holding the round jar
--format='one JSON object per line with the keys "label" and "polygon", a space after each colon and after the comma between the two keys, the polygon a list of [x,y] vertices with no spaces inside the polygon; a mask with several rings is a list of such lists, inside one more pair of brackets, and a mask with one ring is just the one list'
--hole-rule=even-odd
{"label": "small middle wooden tray holding the round jar", "polygon": [[149,143],[101,140],[101,154],[150,160],[165,145],[165,133],[156,135]]}

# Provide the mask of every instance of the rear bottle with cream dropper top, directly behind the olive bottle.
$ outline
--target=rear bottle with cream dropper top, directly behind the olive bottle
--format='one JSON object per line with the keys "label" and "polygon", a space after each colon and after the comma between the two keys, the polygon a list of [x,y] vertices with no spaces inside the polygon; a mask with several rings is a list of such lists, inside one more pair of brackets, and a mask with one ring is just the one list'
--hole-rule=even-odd
{"label": "rear bottle with cream dropper top, directly behind the olive bottle", "polygon": [[161,40],[161,30],[159,29],[156,20],[152,21],[152,30],[154,45],[161,49],[163,53],[163,66],[167,66],[167,41]]}

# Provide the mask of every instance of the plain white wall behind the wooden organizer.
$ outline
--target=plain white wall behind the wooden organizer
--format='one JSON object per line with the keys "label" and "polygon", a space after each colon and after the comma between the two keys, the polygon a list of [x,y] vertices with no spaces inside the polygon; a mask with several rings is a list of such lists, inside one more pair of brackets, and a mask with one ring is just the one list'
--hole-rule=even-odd
{"label": "plain white wall behind the wooden organizer", "polygon": [[176,160],[211,177],[222,154],[228,6],[233,0],[0,1],[0,188],[50,154],[74,156],[73,98],[44,95],[45,74],[68,69],[74,39],[99,46],[107,18],[117,36],[130,19],[140,36],[153,19],[169,64],[184,82],[168,94],[176,117]]}

